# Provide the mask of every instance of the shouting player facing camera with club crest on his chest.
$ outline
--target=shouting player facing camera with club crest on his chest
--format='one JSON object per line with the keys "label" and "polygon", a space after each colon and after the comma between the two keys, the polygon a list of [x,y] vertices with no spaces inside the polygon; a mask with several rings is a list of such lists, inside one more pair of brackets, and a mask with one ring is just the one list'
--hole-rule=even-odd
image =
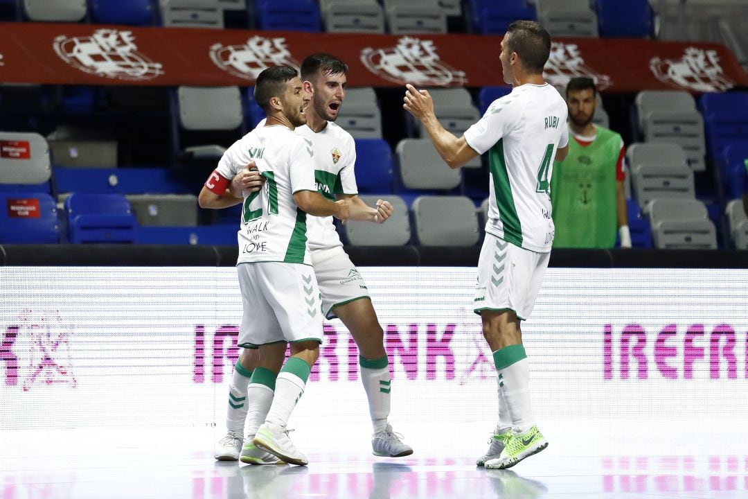
{"label": "shouting player facing camera with club crest on his chest", "polygon": [[[349,220],[383,223],[392,213],[392,206],[386,200],[378,200],[377,206],[370,207],[358,197],[355,143],[348,132],[334,123],[345,98],[347,70],[346,64],[334,55],[313,54],[304,58],[301,79],[313,96],[306,111],[307,124],[299,126],[296,132],[312,143],[319,192],[330,200],[348,200]],[[258,126],[262,125],[260,122]],[[245,169],[235,177],[232,191],[241,195],[243,189],[255,188],[255,178],[256,174]],[[388,420],[392,382],[384,332],[366,283],[343,250],[331,217],[307,218],[307,239],[322,293],[322,310],[328,319],[339,317],[358,345],[361,380],[373,426],[372,452],[375,456],[408,456],[413,449],[393,432]],[[254,369],[254,355],[245,349],[236,362],[227,408],[227,435],[218,442],[216,459],[236,459],[242,449],[246,387]],[[247,462],[243,454],[239,459]]]}

